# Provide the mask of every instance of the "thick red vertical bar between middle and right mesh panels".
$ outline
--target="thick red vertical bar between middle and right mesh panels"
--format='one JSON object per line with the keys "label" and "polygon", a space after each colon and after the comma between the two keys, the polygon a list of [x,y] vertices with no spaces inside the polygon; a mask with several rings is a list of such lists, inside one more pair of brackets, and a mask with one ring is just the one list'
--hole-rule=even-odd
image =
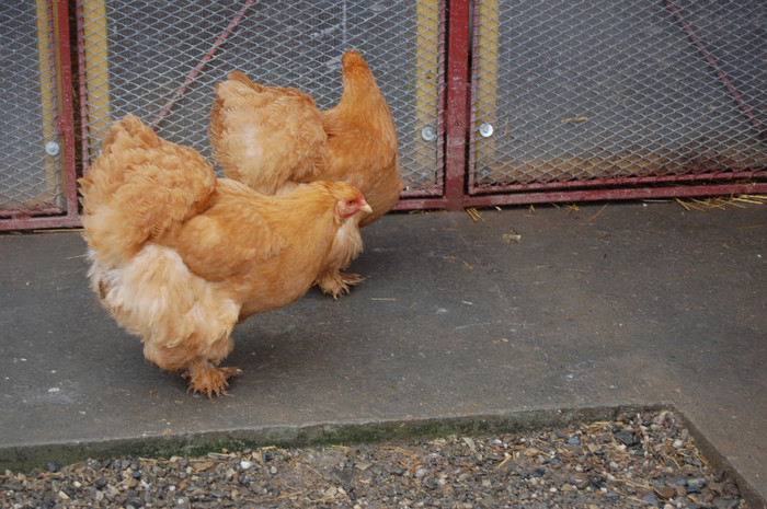
{"label": "thick red vertical bar between middle and right mesh panels", "polygon": [[469,122],[469,3],[447,2],[447,105],[445,111],[445,198],[448,210],[463,206]]}

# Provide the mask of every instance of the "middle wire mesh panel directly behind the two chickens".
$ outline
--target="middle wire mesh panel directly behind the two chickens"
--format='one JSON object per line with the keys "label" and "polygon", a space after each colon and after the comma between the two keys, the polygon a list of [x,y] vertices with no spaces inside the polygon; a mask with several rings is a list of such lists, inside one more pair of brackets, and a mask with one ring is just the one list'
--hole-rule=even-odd
{"label": "middle wire mesh panel directly behind the two chickens", "polygon": [[232,69],[296,86],[330,108],[341,97],[341,56],[354,48],[392,111],[403,181],[416,190],[438,184],[438,0],[81,0],[79,8],[85,163],[128,113],[210,158],[214,84]]}

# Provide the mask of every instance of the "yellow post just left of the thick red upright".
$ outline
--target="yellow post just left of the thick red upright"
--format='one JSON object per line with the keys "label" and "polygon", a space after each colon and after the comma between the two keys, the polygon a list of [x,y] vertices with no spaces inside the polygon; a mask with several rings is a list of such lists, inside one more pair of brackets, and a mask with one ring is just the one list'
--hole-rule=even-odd
{"label": "yellow post just left of the thick red upright", "polygon": [[[439,0],[419,0],[416,4],[416,44],[415,44],[415,136],[417,146],[416,163],[423,169],[435,169],[437,132],[437,104],[439,79]],[[424,129],[433,129],[426,136]],[[405,136],[413,136],[408,132]]]}

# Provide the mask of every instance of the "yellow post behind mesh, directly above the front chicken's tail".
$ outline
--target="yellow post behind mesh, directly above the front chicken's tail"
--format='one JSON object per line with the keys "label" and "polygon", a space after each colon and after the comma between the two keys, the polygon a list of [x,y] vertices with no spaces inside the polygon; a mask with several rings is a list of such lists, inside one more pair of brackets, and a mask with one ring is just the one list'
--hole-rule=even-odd
{"label": "yellow post behind mesh, directly above the front chicken's tail", "polygon": [[88,135],[91,154],[99,149],[112,124],[106,22],[106,0],[82,0]]}

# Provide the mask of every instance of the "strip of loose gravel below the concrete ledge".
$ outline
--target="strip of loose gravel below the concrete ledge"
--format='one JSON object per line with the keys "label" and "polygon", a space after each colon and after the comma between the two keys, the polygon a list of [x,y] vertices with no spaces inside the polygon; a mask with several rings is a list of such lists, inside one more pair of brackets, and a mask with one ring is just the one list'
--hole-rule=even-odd
{"label": "strip of loose gravel below the concrete ledge", "polygon": [[747,508],[672,412],[490,437],[114,458],[0,475],[3,508]]}

